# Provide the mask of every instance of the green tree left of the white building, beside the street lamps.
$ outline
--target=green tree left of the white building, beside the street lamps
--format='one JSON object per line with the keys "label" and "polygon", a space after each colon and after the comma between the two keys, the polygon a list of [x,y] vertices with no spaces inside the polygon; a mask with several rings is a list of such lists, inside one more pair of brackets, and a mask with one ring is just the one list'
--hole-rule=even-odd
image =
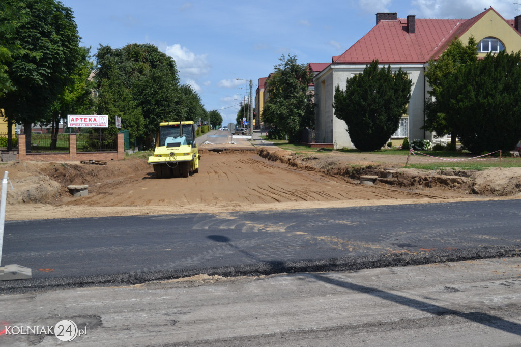
{"label": "green tree left of the white building, beside the street lamps", "polygon": [[305,64],[298,64],[296,56],[282,55],[281,63],[267,80],[268,101],[263,109],[263,121],[272,128],[288,134],[289,141],[298,139],[299,131],[314,127],[315,110],[311,102],[309,84],[312,71]]}

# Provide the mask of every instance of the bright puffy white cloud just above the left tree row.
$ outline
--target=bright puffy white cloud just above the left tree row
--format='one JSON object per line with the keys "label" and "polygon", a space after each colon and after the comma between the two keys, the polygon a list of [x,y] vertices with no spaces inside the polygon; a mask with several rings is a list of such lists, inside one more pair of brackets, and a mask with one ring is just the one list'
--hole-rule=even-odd
{"label": "bright puffy white cloud just above the left tree row", "polygon": [[180,44],[167,46],[166,54],[176,61],[181,79],[197,79],[210,71],[210,64],[206,61],[208,54],[195,55],[187,47],[181,48]]}

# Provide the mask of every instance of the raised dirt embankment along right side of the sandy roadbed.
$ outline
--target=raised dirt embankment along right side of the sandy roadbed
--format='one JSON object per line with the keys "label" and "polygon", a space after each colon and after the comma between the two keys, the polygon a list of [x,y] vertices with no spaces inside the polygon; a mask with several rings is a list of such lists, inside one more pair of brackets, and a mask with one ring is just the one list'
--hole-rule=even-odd
{"label": "raised dirt embankment along right side of the sandy roadbed", "polygon": [[[404,169],[405,158],[378,154],[303,155],[290,151],[259,150],[259,156],[295,168],[316,170],[326,175],[358,181],[362,175],[378,176],[378,182],[390,187],[420,191],[454,191],[482,196],[521,194],[521,168],[492,168],[484,171],[443,169],[436,171]],[[431,159],[418,158],[417,162]]]}

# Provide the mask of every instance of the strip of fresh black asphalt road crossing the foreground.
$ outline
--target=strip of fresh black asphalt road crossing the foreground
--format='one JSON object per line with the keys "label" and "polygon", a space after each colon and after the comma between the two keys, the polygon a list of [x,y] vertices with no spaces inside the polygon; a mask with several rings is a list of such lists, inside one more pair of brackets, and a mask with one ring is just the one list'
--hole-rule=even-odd
{"label": "strip of fresh black asphalt road crossing the foreground", "polygon": [[0,290],[519,255],[519,200],[7,221]]}

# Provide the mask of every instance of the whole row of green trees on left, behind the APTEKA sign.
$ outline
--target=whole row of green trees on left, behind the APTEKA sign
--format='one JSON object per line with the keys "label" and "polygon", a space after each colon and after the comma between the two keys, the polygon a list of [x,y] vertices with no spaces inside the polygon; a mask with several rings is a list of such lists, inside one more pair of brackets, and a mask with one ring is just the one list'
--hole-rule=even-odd
{"label": "whole row of green trees on left, behind the APTEKA sign", "polygon": [[[53,137],[68,114],[106,114],[116,133],[121,117],[131,141],[151,139],[161,121],[192,120],[220,125],[201,96],[182,85],[175,61],[151,44],[100,45],[94,56],[81,40],[73,13],[55,0],[0,3],[0,108],[11,125],[23,125],[30,148],[31,125],[50,126]],[[220,117],[220,118],[219,118]]]}

